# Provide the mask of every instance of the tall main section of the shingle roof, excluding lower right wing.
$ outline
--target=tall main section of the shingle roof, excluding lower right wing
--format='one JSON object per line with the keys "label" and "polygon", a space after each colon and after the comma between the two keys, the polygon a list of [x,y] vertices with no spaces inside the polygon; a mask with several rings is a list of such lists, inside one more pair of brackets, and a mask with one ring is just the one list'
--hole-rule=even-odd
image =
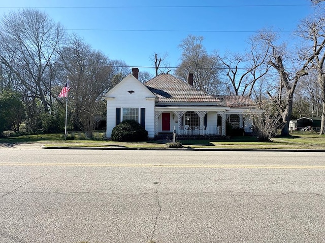
{"label": "tall main section of the shingle roof, excluding lower right wing", "polygon": [[171,74],[159,74],[144,85],[158,97],[158,102],[212,102],[224,106],[222,99],[197,90]]}

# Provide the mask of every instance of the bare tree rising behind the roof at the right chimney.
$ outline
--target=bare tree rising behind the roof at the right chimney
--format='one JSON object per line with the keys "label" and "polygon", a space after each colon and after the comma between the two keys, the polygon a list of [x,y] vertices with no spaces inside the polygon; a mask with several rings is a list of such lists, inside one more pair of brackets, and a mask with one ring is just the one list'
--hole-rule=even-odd
{"label": "bare tree rising behind the roof at the right chimney", "polygon": [[193,73],[193,86],[213,95],[223,94],[220,74],[222,66],[216,55],[209,55],[203,46],[203,36],[188,35],[179,48],[182,50],[181,63],[175,70],[176,76],[187,79]]}

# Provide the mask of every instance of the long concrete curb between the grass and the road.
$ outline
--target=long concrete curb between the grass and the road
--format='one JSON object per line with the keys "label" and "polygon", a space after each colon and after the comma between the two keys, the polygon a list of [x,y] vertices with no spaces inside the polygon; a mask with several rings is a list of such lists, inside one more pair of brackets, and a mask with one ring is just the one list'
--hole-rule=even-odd
{"label": "long concrete curb between the grass and the road", "polygon": [[133,148],[133,147],[71,147],[71,146],[44,146],[43,149],[91,149],[91,150],[181,150],[181,151],[261,151],[261,152],[325,152],[325,149],[276,149],[276,148]]}

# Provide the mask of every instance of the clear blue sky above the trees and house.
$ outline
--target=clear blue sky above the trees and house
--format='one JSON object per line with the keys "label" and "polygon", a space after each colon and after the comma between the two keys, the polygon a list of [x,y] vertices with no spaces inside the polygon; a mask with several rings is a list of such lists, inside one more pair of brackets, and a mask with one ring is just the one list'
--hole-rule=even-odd
{"label": "clear blue sky above the trees and house", "polygon": [[15,0],[0,4],[0,15],[19,7],[37,7],[76,32],[110,59],[151,73],[150,57],[168,53],[170,66],[179,64],[178,45],[188,34],[204,36],[208,52],[241,53],[255,31],[288,31],[312,13],[310,0]]}

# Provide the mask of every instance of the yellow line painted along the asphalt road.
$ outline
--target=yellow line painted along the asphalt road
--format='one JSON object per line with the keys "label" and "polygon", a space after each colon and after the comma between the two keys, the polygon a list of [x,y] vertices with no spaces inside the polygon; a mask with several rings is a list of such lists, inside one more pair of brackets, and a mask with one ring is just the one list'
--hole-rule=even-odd
{"label": "yellow line painted along the asphalt road", "polygon": [[62,166],[62,167],[156,167],[156,168],[215,168],[215,169],[317,169],[325,166],[291,165],[200,165],[200,164],[109,164],[109,163],[0,163],[0,166]]}

